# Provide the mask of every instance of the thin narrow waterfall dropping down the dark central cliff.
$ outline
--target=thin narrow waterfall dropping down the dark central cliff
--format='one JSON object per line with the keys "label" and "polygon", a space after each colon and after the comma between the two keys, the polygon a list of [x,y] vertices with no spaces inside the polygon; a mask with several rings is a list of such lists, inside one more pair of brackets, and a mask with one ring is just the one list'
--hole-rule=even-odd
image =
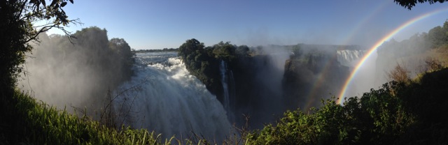
{"label": "thin narrow waterfall dropping down the dark central cliff", "polygon": [[[235,122],[235,116],[232,111],[232,106],[235,106],[235,105],[230,104],[231,94],[235,93],[235,87],[233,87],[233,86],[235,86],[235,80],[233,78],[233,73],[232,73],[232,71],[230,71],[230,73],[229,73],[230,78],[227,77],[227,75],[228,75],[227,64],[223,60],[221,60],[221,65],[219,67],[219,70],[221,72],[221,84],[223,85],[224,109],[228,114],[229,121]],[[230,84],[232,86],[228,85],[229,80],[230,80]],[[232,88],[233,91],[230,91],[230,88]],[[232,96],[235,96],[235,95],[232,95]]]}

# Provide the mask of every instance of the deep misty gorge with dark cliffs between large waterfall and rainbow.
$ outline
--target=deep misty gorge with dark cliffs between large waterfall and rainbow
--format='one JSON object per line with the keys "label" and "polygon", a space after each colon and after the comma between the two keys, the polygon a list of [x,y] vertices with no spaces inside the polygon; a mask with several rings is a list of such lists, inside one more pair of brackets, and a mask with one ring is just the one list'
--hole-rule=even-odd
{"label": "deep misty gorge with dark cliffs between large waterfall and rainbow", "polygon": [[224,105],[230,121],[244,125],[244,116],[250,116],[251,127],[261,128],[286,109],[318,107],[319,100],[339,93],[363,51],[358,45],[204,47],[192,39],[179,48],[179,56]]}

